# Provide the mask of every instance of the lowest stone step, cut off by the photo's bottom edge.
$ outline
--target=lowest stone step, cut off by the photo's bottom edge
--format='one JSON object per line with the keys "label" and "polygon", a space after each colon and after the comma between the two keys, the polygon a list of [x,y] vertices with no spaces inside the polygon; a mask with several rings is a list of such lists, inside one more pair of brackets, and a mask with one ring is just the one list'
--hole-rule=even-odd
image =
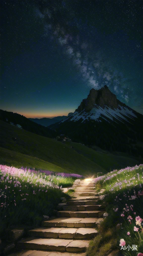
{"label": "lowest stone step, cut off by the photo's bottom edge", "polygon": [[72,253],[66,251],[36,251],[36,250],[20,250],[14,252],[8,256],[85,256],[86,252],[82,253]]}

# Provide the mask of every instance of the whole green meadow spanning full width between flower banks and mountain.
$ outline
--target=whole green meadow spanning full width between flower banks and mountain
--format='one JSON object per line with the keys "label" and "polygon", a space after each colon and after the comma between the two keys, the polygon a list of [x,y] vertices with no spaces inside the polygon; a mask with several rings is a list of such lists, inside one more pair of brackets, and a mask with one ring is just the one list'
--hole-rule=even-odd
{"label": "whole green meadow spanning full width between flower banks and mountain", "polygon": [[20,168],[46,169],[97,177],[113,169],[143,163],[142,159],[115,155],[80,143],[62,143],[6,122],[1,123],[0,163]]}

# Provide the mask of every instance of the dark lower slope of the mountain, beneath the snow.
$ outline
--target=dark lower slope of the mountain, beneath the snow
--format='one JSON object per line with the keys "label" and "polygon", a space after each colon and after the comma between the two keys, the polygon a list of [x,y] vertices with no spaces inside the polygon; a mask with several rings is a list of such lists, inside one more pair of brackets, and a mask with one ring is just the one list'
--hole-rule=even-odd
{"label": "dark lower slope of the mountain, beneath the snow", "polygon": [[[82,113],[79,113],[79,115]],[[143,142],[143,116],[135,112],[137,118],[128,118],[128,121],[111,121],[99,117],[101,122],[84,120],[70,121],[69,117],[64,122],[50,125],[59,134],[66,134],[72,141],[85,145],[98,146],[110,152],[119,151],[128,153],[130,157],[143,158],[143,147],[138,143]]]}

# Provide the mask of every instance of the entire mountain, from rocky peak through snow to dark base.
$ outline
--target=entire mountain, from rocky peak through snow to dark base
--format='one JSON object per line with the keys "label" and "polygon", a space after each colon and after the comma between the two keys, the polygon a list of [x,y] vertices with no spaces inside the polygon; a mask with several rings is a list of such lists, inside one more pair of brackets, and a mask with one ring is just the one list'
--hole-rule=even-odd
{"label": "entire mountain, from rocky peak through snow to dark base", "polygon": [[49,127],[75,142],[143,157],[143,116],[118,100],[107,86],[91,89],[72,115]]}

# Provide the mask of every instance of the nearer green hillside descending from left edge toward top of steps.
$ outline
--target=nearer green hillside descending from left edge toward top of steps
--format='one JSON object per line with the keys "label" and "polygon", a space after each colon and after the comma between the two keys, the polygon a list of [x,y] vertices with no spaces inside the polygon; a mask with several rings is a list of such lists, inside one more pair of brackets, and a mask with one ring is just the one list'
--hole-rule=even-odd
{"label": "nearer green hillside descending from left edge toward top of steps", "polygon": [[[45,168],[91,176],[106,170],[69,146],[1,121],[1,164]],[[9,151],[6,151],[9,150]],[[11,151],[11,152],[10,152]],[[11,154],[12,153],[12,154]]]}

